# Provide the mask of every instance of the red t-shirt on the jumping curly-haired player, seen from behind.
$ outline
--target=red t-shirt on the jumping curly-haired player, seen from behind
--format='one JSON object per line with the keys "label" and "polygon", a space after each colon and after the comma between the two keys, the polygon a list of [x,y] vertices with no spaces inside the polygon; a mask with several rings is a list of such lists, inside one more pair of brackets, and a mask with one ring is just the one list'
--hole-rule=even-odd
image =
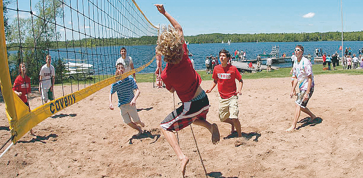
{"label": "red t-shirt on the jumping curly-haired player, seen from behind", "polygon": [[180,101],[190,101],[202,79],[197,71],[194,70],[192,62],[187,54],[187,44],[183,44],[183,58],[179,64],[167,64],[161,78],[168,90],[174,87]]}

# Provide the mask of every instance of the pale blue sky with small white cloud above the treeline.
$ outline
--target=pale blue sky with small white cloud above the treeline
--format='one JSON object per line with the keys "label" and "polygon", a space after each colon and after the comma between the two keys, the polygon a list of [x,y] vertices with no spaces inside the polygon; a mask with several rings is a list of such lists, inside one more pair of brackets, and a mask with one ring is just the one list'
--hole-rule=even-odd
{"label": "pale blue sky with small white cloud above the treeline", "polygon": [[[101,2],[103,1],[105,0]],[[124,0],[120,1],[124,2]],[[19,9],[29,10],[29,2],[20,0]],[[32,2],[34,7],[38,0],[32,0]],[[69,0],[66,2],[69,2]],[[75,5],[75,2],[76,0],[71,0],[72,5]],[[79,0],[79,2],[82,1]],[[167,19],[153,6],[157,3],[164,4],[166,11],[182,25],[186,36],[211,33],[308,33],[341,32],[342,30],[340,0],[184,0],[160,2],[136,0],[136,3],[155,25],[169,24]],[[363,0],[343,0],[343,31],[363,30],[362,9]],[[15,14],[12,15],[15,16]],[[19,13],[19,15],[23,17],[30,16],[29,13]],[[76,21],[75,18],[76,16],[73,17],[73,21]],[[69,19],[70,17],[67,17],[67,20]],[[70,21],[66,25],[71,25]],[[77,25],[73,24],[74,26]],[[86,26],[86,28],[92,27]],[[64,33],[64,29],[61,30]],[[70,36],[67,32],[67,38]]]}

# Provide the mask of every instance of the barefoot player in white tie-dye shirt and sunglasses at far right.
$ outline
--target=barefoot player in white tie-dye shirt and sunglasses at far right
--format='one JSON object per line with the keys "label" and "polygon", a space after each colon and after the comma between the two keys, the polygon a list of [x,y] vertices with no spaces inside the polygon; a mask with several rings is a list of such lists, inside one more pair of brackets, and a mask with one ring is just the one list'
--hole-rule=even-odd
{"label": "barefoot player in white tie-dye shirt and sunglasses at far right", "polygon": [[293,75],[295,76],[295,79],[290,98],[294,96],[294,91],[297,84],[299,84],[300,92],[295,101],[295,114],[293,123],[289,129],[286,129],[286,131],[293,131],[296,129],[297,120],[301,111],[310,116],[308,123],[312,123],[316,118],[316,116],[306,107],[307,102],[313,95],[315,84],[312,63],[310,63],[307,58],[302,56],[303,53],[304,48],[301,45],[296,45],[295,55],[297,56],[297,60],[294,63],[293,68]]}

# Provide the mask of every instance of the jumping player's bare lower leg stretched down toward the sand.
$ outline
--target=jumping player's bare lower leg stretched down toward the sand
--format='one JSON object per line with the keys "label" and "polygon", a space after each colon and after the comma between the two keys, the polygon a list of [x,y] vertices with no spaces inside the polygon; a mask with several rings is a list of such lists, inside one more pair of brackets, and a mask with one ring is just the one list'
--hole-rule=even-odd
{"label": "jumping player's bare lower leg stretched down toward the sand", "polygon": [[166,140],[168,141],[168,143],[170,144],[170,146],[173,148],[173,150],[176,153],[176,156],[179,158],[180,162],[182,162],[181,167],[182,167],[182,173],[184,176],[185,168],[189,162],[189,158],[183,154],[182,149],[180,149],[176,136],[173,132],[170,132],[170,131],[167,131],[164,129],[161,129],[161,131],[163,132],[163,134],[164,134]]}

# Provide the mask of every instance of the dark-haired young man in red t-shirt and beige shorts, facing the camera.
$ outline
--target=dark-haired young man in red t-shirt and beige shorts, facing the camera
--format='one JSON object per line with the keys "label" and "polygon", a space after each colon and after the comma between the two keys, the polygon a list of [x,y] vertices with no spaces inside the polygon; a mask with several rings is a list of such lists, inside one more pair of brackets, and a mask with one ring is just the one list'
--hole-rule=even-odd
{"label": "dark-haired young man in red t-shirt and beige shorts, facing the camera", "polygon": [[[236,128],[238,137],[242,137],[241,123],[238,120],[239,111],[237,96],[237,94],[242,95],[242,76],[236,66],[227,64],[230,58],[230,54],[227,50],[222,49],[219,51],[219,58],[222,64],[214,68],[215,72],[212,76],[214,82],[212,83],[211,89],[205,91],[205,93],[210,93],[218,83],[218,91],[220,95],[219,119],[221,122],[231,125],[231,133],[233,133]],[[236,87],[236,79],[239,81],[238,90]]]}

